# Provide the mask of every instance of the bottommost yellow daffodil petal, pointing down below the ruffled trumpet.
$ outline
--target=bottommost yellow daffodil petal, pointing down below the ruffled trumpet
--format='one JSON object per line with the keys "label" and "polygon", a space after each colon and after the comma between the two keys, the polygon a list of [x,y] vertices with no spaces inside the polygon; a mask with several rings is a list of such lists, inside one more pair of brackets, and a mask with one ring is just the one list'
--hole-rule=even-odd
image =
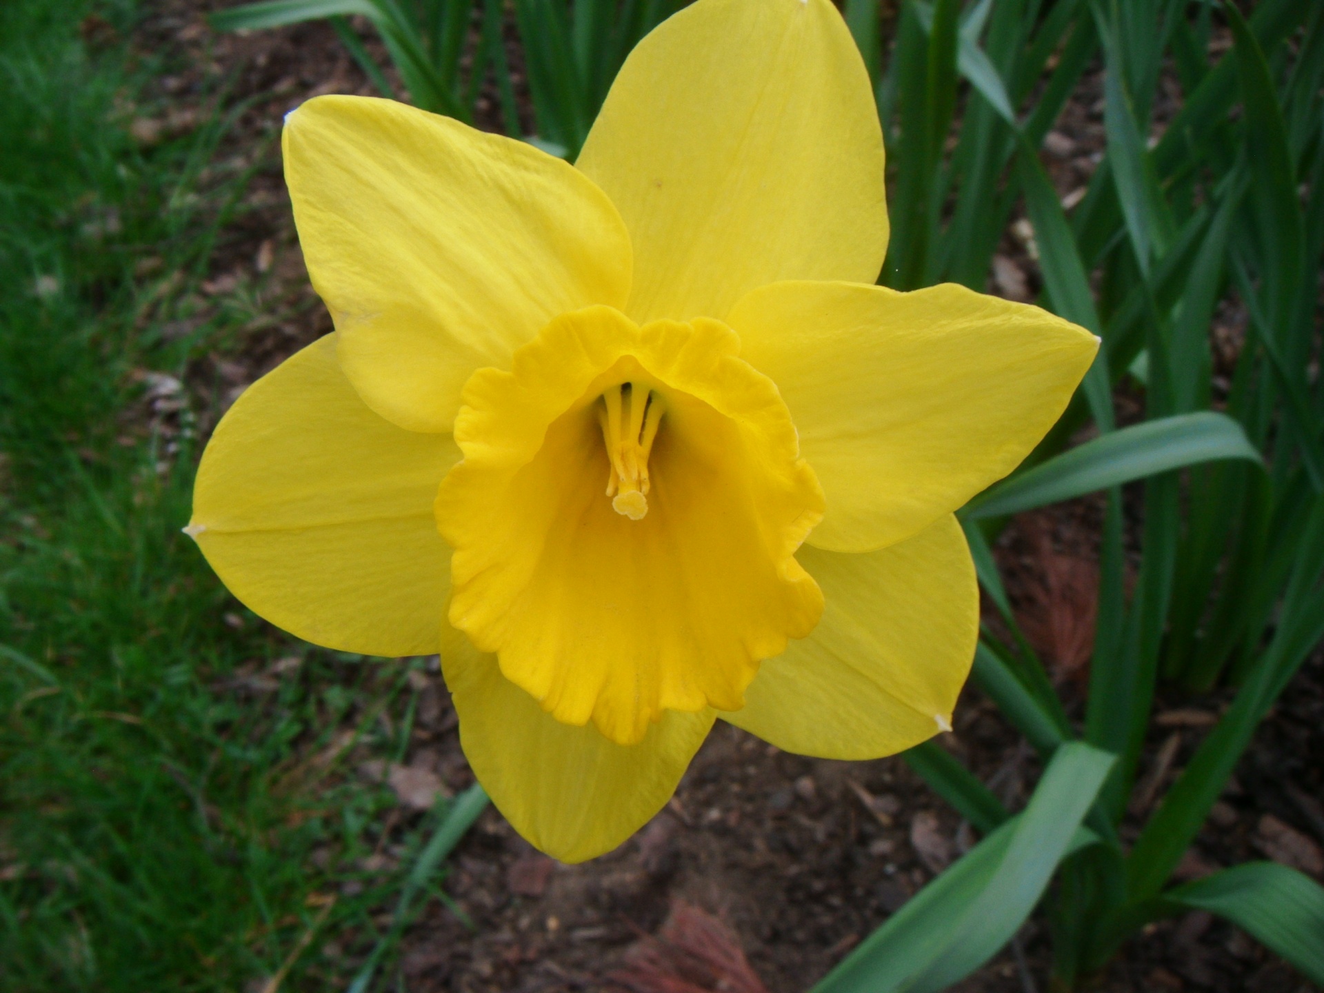
{"label": "bottommost yellow daffodil petal, pointing down below the ruffled trumpet", "polygon": [[610,851],[643,826],[712,727],[711,710],[671,711],[638,744],[616,744],[592,724],[544,714],[454,629],[442,641],[442,673],[474,775],[515,830],[561,862]]}

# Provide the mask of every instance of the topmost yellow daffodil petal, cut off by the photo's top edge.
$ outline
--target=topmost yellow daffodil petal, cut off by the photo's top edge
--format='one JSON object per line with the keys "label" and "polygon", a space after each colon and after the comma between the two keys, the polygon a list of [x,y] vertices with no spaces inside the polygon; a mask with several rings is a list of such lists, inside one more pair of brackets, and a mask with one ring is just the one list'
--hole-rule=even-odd
{"label": "topmost yellow daffodil petal, cut off by the photo's top edge", "polygon": [[628,312],[723,318],[776,279],[873,282],[887,252],[869,74],[829,0],[698,0],[625,61],[576,166],[634,242]]}

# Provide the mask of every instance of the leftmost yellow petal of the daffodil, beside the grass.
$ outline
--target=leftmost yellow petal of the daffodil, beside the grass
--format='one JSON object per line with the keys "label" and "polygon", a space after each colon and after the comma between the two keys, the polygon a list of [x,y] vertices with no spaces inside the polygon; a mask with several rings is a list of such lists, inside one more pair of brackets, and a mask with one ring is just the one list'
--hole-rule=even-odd
{"label": "leftmost yellow petal of the daffodil, beside the grass", "polygon": [[437,650],[450,549],[432,502],[459,450],[369,410],[335,335],[249,387],[216,428],[188,532],[246,606],[367,655]]}

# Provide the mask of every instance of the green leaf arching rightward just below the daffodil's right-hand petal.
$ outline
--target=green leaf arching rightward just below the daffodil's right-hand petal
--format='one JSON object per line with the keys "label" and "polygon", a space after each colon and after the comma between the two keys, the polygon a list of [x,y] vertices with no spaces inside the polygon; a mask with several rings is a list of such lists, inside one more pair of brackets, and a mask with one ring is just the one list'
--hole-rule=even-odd
{"label": "green leaf arching rightward just below the daffodil's right-hand petal", "polygon": [[1198,462],[1259,453],[1231,417],[1202,410],[1147,421],[1078,445],[965,504],[968,520],[1004,516]]}

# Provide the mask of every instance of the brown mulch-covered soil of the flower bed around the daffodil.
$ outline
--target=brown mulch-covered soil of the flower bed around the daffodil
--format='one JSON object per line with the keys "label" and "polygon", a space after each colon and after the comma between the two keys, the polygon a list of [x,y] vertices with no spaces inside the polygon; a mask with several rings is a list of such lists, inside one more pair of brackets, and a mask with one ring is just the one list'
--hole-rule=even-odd
{"label": "brown mulch-covered soil of the flower bed around the daffodil", "polygon": [[[136,42],[177,50],[181,68],[160,79],[158,106],[126,113],[135,115],[135,134],[143,140],[196,126],[217,110],[234,113],[232,136],[212,168],[256,169],[203,287],[216,306],[236,287],[254,287],[262,301],[262,316],[233,351],[191,369],[189,387],[214,399],[214,421],[248,383],[331,330],[307,286],[290,220],[277,140],[282,117],[315,94],[373,91],[326,25],[218,36],[200,17],[211,5],[160,3]],[[216,79],[225,81],[220,107],[201,95]],[[1098,163],[1100,95],[1098,75],[1087,77],[1046,143],[1046,162],[1068,200]],[[1030,299],[1038,290],[1027,238],[1016,225],[989,290],[1014,299]],[[1123,396],[1119,402],[1125,408],[1135,401]],[[1099,506],[1088,499],[1025,515],[997,549],[1017,610],[1076,710],[1092,639],[1099,516]],[[420,699],[405,763],[437,776],[448,789],[462,789],[471,775],[438,675],[428,678]],[[1221,703],[1160,700],[1133,817],[1161,797]],[[976,690],[967,690],[955,731],[943,735],[943,744],[1009,805],[1023,802],[1037,759]],[[1196,878],[1270,857],[1313,865],[1321,878],[1321,771],[1324,658],[1316,653],[1258,733],[1181,875]],[[553,863],[489,810],[459,846],[445,883],[467,923],[433,902],[406,936],[402,972],[413,993],[628,989],[613,985],[608,973],[641,936],[659,928],[673,902],[683,900],[732,929],[767,990],[798,993],[974,839],[969,825],[898,759],[804,759],[719,723],[667,808],[621,849],[591,863]],[[356,953],[332,943],[320,951],[331,960]],[[1013,949],[960,989],[1043,990],[1047,967],[1046,931],[1031,920]],[[1311,989],[1255,941],[1206,914],[1151,925],[1092,988]]]}

